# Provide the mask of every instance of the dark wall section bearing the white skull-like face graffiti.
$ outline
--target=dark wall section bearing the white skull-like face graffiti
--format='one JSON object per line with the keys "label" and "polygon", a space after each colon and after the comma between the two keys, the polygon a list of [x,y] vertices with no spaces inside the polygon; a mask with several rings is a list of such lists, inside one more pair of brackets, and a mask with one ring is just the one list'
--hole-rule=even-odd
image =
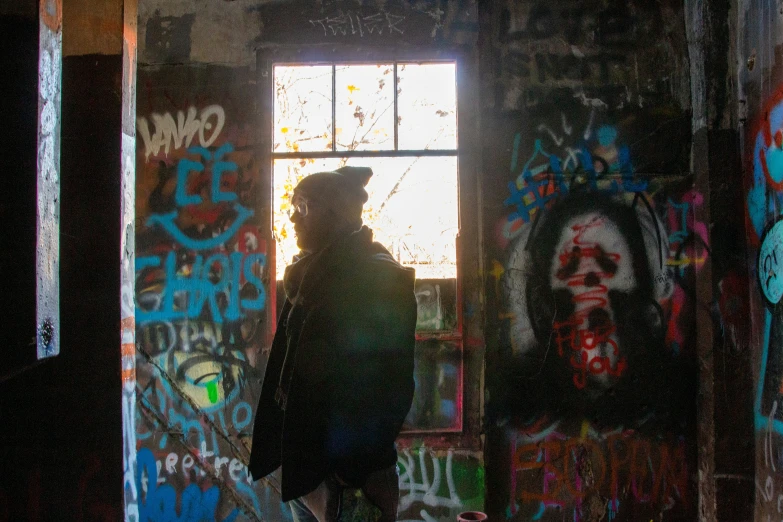
{"label": "dark wall section bearing the white skull-like face graffiti", "polygon": [[499,2],[487,16],[487,509],[692,520],[710,249],[681,7]]}

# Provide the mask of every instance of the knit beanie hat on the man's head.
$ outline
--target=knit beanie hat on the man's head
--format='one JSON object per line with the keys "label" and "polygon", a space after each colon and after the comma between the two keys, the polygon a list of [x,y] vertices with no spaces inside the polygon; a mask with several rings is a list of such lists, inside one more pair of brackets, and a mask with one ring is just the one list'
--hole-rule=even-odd
{"label": "knit beanie hat on the man's head", "polygon": [[358,229],[362,224],[362,207],[369,197],[364,187],[371,177],[370,167],[340,167],[310,174],[299,182],[296,190],[306,197],[317,198]]}

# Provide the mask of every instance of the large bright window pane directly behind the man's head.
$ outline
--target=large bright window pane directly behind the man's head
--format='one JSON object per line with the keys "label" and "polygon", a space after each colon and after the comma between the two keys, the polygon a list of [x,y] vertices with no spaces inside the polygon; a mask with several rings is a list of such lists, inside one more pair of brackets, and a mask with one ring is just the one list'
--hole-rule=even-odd
{"label": "large bright window pane directly behind the man's head", "polygon": [[417,157],[275,160],[278,279],[299,251],[288,220],[294,187],[307,174],[346,164],[373,169],[363,218],[376,241],[419,279],[456,278],[457,158]]}

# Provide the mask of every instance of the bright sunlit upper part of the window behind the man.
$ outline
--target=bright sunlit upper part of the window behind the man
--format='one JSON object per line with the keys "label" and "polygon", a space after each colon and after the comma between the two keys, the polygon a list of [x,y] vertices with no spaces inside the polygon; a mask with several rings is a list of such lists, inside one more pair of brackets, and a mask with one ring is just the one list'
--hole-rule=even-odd
{"label": "bright sunlit upper part of the window behind the man", "polygon": [[363,219],[376,241],[419,279],[456,278],[456,65],[278,65],[274,96],[277,278],[299,252],[294,187],[344,165],[373,169]]}

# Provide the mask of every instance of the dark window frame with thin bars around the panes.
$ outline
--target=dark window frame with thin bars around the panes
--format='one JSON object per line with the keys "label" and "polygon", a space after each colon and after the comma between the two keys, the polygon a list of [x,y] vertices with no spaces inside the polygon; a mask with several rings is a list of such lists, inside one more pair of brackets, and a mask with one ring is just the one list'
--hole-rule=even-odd
{"label": "dark window frame with thin bars around the panes", "polygon": [[[483,415],[483,388],[475,391],[471,391],[470,397],[467,396],[466,391],[466,376],[468,375],[468,365],[473,369],[471,375],[475,373],[476,369],[479,369],[481,374],[481,382],[483,387],[483,339],[479,341],[476,333],[481,330],[481,325],[475,319],[469,321],[468,328],[466,330],[466,323],[464,317],[466,310],[464,306],[465,284],[464,284],[464,259],[465,259],[465,247],[464,247],[464,220],[463,220],[463,185],[466,181],[473,181],[475,177],[475,165],[477,162],[474,159],[466,160],[466,158],[476,158],[477,154],[471,154],[467,152],[465,142],[470,140],[471,137],[475,139],[475,132],[473,129],[469,129],[467,132],[464,130],[464,121],[468,120],[472,115],[475,117],[477,111],[467,110],[463,112],[463,105],[467,101],[468,89],[461,86],[461,80],[466,78],[466,71],[463,70],[464,63],[467,62],[467,57],[464,52],[458,50],[435,50],[435,49],[423,49],[417,51],[400,51],[395,49],[381,50],[381,49],[367,49],[359,48],[355,46],[334,46],[329,49],[314,48],[308,46],[302,47],[273,47],[262,49],[258,54],[258,70],[259,70],[259,82],[260,88],[258,92],[260,94],[261,103],[259,104],[259,158],[262,161],[262,168],[260,169],[262,175],[266,178],[264,180],[265,189],[261,194],[263,198],[261,204],[261,210],[264,213],[262,218],[264,223],[268,223],[267,233],[270,241],[270,245],[274,246],[273,235],[273,223],[274,223],[274,204],[273,204],[273,183],[274,183],[274,160],[275,159],[295,159],[295,158],[349,158],[349,157],[414,157],[414,156],[451,156],[457,158],[457,215],[458,215],[458,232],[456,235],[456,324],[449,330],[440,331],[417,331],[416,341],[417,344],[421,341],[434,341],[434,342],[452,342],[459,345],[460,350],[460,364],[459,364],[459,376],[458,376],[458,388],[456,391],[456,400],[458,421],[455,426],[448,428],[425,428],[425,429],[405,429],[400,433],[401,437],[433,437],[437,436],[442,443],[458,444],[459,446],[467,447],[479,447],[480,446],[480,419]],[[456,74],[456,99],[457,99],[457,146],[456,149],[424,149],[424,150],[411,150],[403,149],[400,151],[397,147],[397,131],[395,129],[395,149],[382,150],[382,151],[321,151],[321,152],[274,152],[274,67],[275,66],[292,66],[292,65],[375,65],[379,63],[453,63],[455,64]],[[471,69],[470,66],[465,69]],[[334,72],[334,69],[333,69]],[[472,83],[472,82],[466,82]],[[334,85],[334,80],[333,80]],[[396,91],[396,89],[395,89]],[[396,101],[396,92],[395,92]],[[332,98],[332,104],[335,103],[334,96]],[[396,106],[396,103],[395,103]],[[468,117],[465,117],[465,114]],[[395,119],[396,120],[396,119]],[[334,120],[333,120],[334,121]],[[396,125],[395,125],[396,127]],[[477,129],[475,129],[477,130]],[[333,132],[333,136],[336,133]],[[333,140],[334,141],[334,140]],[[476,150],[475,145],[472,150]],[[267,170],[268,169],[268,170]],[[470,172],[470,175],[466,175]],[[474,200],[477,196],[477,192],[480,192],[480,187],[471,187],[470,199]],[[478,212],[478,205],[475,206],[475,211]],[[479,239],[480,235],[480,218],[475,220],[475,223],[471,226],[470,240]],[[478,261],[479,265],[483,265],[479,259],[478,243],[475,242],[475,246],[470,248],[469,255],[473,256],[473,259]],[[277,260],[275,259],[276,248],[269,249],[269,266],[275,266]],[[451,278],[444,279],[444,281],[450,281]],[[270,328],[268,332],[268,339],[271,342],[274,336],[274,328],[276,327],[276,302],[277,302],[277,288],[275,273],[273,270],[269,271],[267,276],[267,282],[269,285],[269,302],[268,318],[270,321]],[[474,288],[475,287],[475,288]],[[472,281],[471,294],[478,294],[482,292],[480,280]],[[471,313],[474,316],[474,313]],[[469,330],[469,331],[468,331]],[[468,344],[471,345],[471,351],[473,353],[467,354]],[[480,354],[477,353],[474,348],[477,344],[481,344]],[[474,355],[480,355],[479,364]],[[467,412],[468,408],[472,408],[470,414]]]}

